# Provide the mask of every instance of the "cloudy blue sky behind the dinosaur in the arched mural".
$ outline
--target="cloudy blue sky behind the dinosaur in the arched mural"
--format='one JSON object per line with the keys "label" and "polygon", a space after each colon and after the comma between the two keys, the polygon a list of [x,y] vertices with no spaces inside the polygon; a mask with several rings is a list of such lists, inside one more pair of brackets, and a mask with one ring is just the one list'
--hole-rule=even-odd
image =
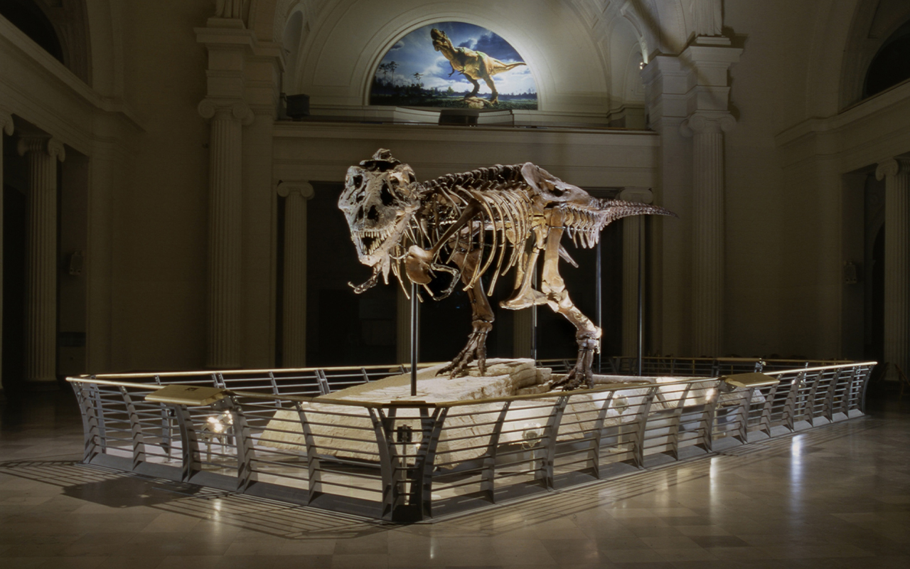
{"label": "cloudy blue sky behind the dinosaur in the arched mural", "polygon": [[[399,65],[395,70],[395,79],[399,84],[410,85],[414,82],[414,73],[420,73],[422,75],[420,82],[426,88],[439,87],[440,90],[445,90],[451,86],[459,92],[470,91],[473,88],[460,73],[449,76],[452,70],[449,60],[433,49],[430,29],[434,27],[445,32],[456,47],[470,47],[482,51],[503,63],[524,61],[506,40],[486,28],[463,22],[437,22],[402,37],[382,58],[383,64],[394,61]],[[384,77],[379,71],[377,76]],[[516,67],[493,76],[493,80],[500,93],[537,93],[531,69],[527,66]],[[480,81],[480,95],[489,93],[490,87]]]}

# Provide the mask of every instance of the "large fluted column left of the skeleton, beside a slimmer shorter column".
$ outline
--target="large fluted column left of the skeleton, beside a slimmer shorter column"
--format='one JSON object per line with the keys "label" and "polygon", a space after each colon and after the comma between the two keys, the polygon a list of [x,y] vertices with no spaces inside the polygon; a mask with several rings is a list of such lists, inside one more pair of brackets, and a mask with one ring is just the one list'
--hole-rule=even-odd
{"label": "large fluted column left of the skeleton, beside a slimmer shorter column", "polygon": [[242,286],[242,135],[253,113],[242,101],[203,99],[199,115],[211,119],[208,142],[208,341],[206,365],[240,366]]}

